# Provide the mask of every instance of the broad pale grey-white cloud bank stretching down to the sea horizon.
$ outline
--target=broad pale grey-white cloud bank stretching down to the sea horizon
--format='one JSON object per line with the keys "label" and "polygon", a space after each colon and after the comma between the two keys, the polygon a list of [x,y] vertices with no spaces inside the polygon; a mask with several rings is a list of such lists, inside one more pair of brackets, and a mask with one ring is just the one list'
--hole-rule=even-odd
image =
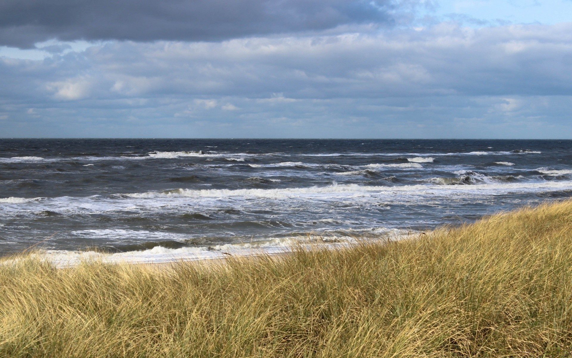
{"label": "broad pale grey-white cloud bank stretching down to the sea horizon", "polygon": [[570,58],[572,24],[112,41],[42,61],[0,58],[0,131],[562,137],[572,133]]}

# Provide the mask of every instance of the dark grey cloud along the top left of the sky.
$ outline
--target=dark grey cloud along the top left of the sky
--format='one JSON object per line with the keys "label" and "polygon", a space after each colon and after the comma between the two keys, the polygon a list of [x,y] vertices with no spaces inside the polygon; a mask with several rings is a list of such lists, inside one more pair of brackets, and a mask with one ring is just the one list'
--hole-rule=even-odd
{"label": "dark grey cloud along the top left of the sky", "polygon": [[3,0],[0,45],[73,40],[219,41],[393,23],[412,0]]}

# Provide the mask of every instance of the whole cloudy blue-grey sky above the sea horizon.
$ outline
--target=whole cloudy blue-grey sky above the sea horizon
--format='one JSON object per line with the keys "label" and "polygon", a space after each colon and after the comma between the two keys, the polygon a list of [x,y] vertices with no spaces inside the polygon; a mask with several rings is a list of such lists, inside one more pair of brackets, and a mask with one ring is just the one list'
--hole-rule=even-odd
{"label": "whole cloudy blue-grey sky above the sea horizon", "polygon": [[572,139],[572,0],[3,0],[0,137]]}

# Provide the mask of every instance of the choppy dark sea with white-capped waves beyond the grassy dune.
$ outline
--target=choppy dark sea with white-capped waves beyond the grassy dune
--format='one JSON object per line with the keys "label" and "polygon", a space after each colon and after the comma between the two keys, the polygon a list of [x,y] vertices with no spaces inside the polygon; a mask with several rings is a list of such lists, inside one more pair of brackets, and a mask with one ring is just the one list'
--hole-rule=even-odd
{"label": "choppy dark sea with white-capped waves beyond the grassy dune", "polygon": [[570,196],[571,150],[555,140],[1,139],[0,254],[51,235],[44,249],[164,255],[474,221]]}

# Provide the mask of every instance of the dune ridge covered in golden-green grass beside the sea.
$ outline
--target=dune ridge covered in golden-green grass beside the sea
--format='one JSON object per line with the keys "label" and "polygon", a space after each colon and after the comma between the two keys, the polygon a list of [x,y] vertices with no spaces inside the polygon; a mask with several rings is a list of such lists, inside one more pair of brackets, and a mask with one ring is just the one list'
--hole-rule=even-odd
{"label": "dune ridge covered in golden-green grass beside the sea", "polygon": [[221,265],[0,266],[0,356],[572,356],[572,200]]}

